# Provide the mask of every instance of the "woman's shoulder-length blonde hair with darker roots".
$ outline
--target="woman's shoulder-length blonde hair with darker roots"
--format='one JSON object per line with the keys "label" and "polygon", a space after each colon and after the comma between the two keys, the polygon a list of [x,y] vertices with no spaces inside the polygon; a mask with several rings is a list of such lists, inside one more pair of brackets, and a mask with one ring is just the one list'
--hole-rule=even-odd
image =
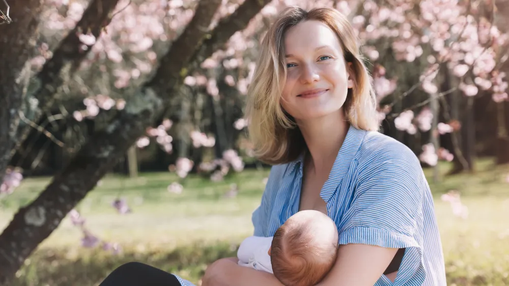
{"label": "woman's shoulder-length blonde hair with darker roots", "polygon": [[282,164],[295,160],[306,145],[300,129],[280,106],[287,68],[285,64],[285,34],[300,22],[317,20],[326,24],[338,37],[345,61],[353,77],[354,87],[348,90],[344,110],[346,119],[357,129],[378,130],[375,92],[357,37],[348,19],[332,8],[305,11],[288,7],[265,35],[260,56],[248,89],[246,116],[249,137],[259,160],[268,164]]}

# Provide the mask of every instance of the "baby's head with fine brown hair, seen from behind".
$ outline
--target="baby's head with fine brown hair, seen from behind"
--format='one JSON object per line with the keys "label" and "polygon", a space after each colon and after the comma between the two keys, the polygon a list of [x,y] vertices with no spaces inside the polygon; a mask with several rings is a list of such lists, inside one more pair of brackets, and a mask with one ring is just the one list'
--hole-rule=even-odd
{"label": "baby's head with fine brown hair, seen from behind", "polygon": [[317,284],[329,273],[336,254],[336,224],[313,210],[291,216],[278,228],[269,249],[274,276],[287,286]]}

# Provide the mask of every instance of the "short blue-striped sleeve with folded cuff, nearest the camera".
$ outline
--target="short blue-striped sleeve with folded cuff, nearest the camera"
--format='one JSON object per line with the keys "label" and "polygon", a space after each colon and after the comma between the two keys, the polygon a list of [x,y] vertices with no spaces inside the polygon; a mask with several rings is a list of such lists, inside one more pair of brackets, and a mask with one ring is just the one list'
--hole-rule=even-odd
{"label": "short blue-striped sleeve with folded cuff, nearest the camera", "polygon": [[360,164],[364,169],[359,170],[351,215],[340,230],[338,243],[406,248],[401,275],[399,272],[393,284],[386,279],[387,285],[403,285],[416,275],[423,281],[423,200],[429,191],[426,178],[417,157],[406,146],[383,149],[369,164]]}

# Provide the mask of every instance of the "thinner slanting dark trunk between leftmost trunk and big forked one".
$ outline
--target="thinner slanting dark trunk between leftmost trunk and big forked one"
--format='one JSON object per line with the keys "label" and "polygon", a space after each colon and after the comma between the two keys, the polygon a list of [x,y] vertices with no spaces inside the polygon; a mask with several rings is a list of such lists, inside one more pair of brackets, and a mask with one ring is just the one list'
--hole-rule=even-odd
{"label": "thinner slanting dark trunk between leftmost trunk and big forked one", "polygon": [[[42,113],[47,110],[54,102],[55,95],[61,87],[65,78],[72,74],[81,61],[92,50],[92,45],[87,45],[87,49],[82,49],[84,45],[79,40],[79,34],[87,34],[88,32],[94,37],[99,38],[102,29],[107,26],[112,18],[112,12],[117,6],[119,0],[93,0],[89,4],[87,10],[83,12],[83,16],[76,24],[74,29],[69,32],[60,45],[53,52],[53,56],[49,59],[42,70],[32,79],[32,91],[27,92],[32,102],[37,104],[26,104],[23,116],[32,122],[39,121]],[[11,158],[16,149],[23,143],[30,133],[30,126],[19,124],[16,135],[16,148],[10,150],[9,158]]]}

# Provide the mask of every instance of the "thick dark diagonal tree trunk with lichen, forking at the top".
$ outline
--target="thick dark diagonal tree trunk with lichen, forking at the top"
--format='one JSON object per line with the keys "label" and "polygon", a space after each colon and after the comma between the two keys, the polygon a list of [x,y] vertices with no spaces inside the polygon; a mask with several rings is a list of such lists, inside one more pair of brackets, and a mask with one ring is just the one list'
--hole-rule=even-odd
{"label": "thick dark diagonal tree trunk with lichen, forking at the top", "polygon": [[[104,131],[98,131],[88,140],[63,173],[56,175],[35,201],[14,216],[0,235],[0,253],[3,254],[0,255],[0,284],[9,284],[39,243],[124,156],[146,128],[163,115],[169,106],[168,97],[176,96],[183,78],[193,71],[190,67],[199,66],[235,32],[245,28],[269,1],[246,0],[210,33],[203,27],[209,26],[220,3],[220,0],[199,2],[193,19],[164,55],[152,80],[137,92]],[[208,39],[202,41],[205,37]]]}

